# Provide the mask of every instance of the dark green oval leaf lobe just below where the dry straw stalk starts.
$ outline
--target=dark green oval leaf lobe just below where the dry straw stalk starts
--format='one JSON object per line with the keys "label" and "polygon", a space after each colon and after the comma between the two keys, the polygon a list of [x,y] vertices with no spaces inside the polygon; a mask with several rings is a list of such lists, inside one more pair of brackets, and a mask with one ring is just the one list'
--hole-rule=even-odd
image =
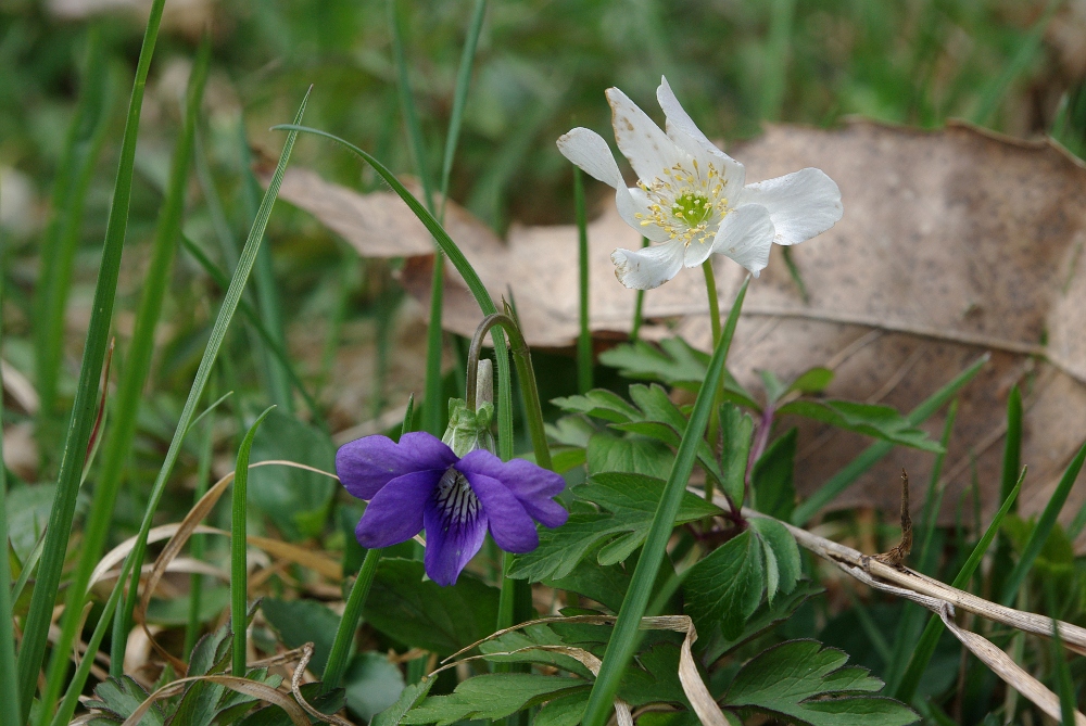
{"label": "dark green oval leaf lobe just below where the dry straw stalk starts", "polygon": [[723,637],[738,637],[761,602],[763,573],[762,545],[749,530],[691,568],[683,581],[683,597],[697,632],[708,636],[719,626]]}

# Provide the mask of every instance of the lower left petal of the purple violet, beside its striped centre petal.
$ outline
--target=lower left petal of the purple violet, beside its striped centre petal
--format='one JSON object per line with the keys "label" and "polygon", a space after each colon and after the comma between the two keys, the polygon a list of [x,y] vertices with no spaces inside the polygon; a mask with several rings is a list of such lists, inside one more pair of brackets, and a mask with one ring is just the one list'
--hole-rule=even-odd
{"label": "lower left petal of the purple violet, beside its striped centre petal", "polygon": [[418,534],[442,473],[416,471],[389,482],[374,496],[354,530],[358,544],[368,549],[390,547]]}

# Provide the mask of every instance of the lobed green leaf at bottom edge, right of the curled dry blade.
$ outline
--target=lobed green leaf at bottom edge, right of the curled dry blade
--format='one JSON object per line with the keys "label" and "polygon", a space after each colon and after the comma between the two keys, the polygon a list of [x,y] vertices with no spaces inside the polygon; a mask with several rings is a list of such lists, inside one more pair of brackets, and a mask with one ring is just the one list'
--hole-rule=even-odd
{"label": "lobed green leaf at bottom edge, right of the curled dry blade", "polygon": [[[883,683],[848,655],[817,640],[790,640],[752,659],[721,703],[808,726],[905,726],[920,716],[904,703],[871,696]],[[830,698],[832,697],[832,698]]]}

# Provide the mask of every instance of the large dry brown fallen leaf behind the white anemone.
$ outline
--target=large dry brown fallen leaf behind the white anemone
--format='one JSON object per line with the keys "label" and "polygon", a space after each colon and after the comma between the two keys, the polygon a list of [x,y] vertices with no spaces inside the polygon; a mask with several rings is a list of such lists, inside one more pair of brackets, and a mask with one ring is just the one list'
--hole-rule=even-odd
{"label": "large dry brown fallen leaf behind the white anemone", "polygon": [[[1027,512],[1043,507],[1086,438],[1083,165],[1052,144],[1014,141],[961,124],[934,132],[868,122],[829,131],[773,126],[735,155],[752,181],[819,167],[837,181],[845,206],[836,227],[793,249],[810,293],[807,303],[779,249],[753,282],[729,358],[736,378],[760,393],[759,369],[787,380],[829,365],[837,371],[830,395],[908,411],[990,351],[992,361],[961,394],[944,467],[949,482],[945,513],[955,511],[968,489],[974,457],[983,505],[988,511],[996,506],[1006,402],[1015,383],[1025,394],[1022,462],[1030,466],[1022,507]],[[288,179],[292,174],[304,173],[291,170]],[[306,189],[285,183],[282,196],[319,217],[314,198],[327,191]],[[397,209],[397,219],[411,214],[401,202],[380,199]],[[450,209],[450,233],[491,293],[513,291],[529,343],[572,345],[578,331],[574,228],[514,227],[502,242],[459,207],[451,204]],[[352,228],[349,219],[336,224],[344,233]],[[412,225],[417,228],[411,234],[400,231]],[[416,255],[403,282],[426,308],[431,257],[424,251],[421,225],[412,218],[397,221],[379,243],[372,227],[366,229],[365,235],[348,237],[361,254],[388,255],[392,246],[400,255]],[[615,280],[609,254],[619,246],[637,247],[640,238],[608,204],[590,225],[589,240],[591,326],[598,337],[621,339],[635,294]],[[715,263],[727,306],[745,271],[719,256]],[[445,327],[470,335],[480,311],[455,271],[445,290]],[[706,310],[700,270],[683,270],[646,294],[645,315],[656,324],[643,334],[680,334],[707,349]],[[940,413],[924,428],[938,437],[943,423]],[[800,429],[796,484],[804,494],[871,443],[805,420],[780,422],[793,424]],[[930,454],[895,450],[832,506],[874,505],[894,512],[896,472],[907,468],[924,481],[932,461]],[[1083,493],[1073,494],[1065,513],[1073,514],[1084,499]]]}

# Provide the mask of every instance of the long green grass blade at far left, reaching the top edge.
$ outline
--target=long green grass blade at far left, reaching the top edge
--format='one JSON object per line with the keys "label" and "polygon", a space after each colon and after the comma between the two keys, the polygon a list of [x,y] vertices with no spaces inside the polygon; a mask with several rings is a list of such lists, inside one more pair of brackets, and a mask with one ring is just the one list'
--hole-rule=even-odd
{"label": "long green grass blade at far left, reaching the top edge", "polygon": [[159,23],[162,21],[164,4],[165,0],[155,0],[151,5],[151,14],[148,18],[147,31],[136,66],[136,79],[128,105],[128,117],[125,122],[124,139],[121,144],[121,161],[113,190],[113,205],[105,229],[105,242],[102,245],[102,259],[99,267],[98,284],[94,288],[90,326],[84,345],[83,364],[79,368],[79,382],[76,386],[72,418],[61,456],[56,495],[49,512],[46,547],[41,553],[41,563],[38,565],[38,578],[30,598],[30,610],[24,625],[23,642],[18,651],[17,678],[24,722],[28,715],[30,699],[34,696],[38,673],[46,655],[49,623],[60,587],[68,536],[72,533],[76,496],[79,493],[79,482],[83,475],[83,462],[90,440],[90,431],[98,415],[98,385],[105,359],[105,348],[110,340],[113,304],[121,270],[121,255],[128,230],[128,206],[131,201],[132,167],[136,160],[136,137],[139,133],[140,109],[143,105],[143,88],[147,84],[148,71],[151,67],[155,40],[159,37]]}

